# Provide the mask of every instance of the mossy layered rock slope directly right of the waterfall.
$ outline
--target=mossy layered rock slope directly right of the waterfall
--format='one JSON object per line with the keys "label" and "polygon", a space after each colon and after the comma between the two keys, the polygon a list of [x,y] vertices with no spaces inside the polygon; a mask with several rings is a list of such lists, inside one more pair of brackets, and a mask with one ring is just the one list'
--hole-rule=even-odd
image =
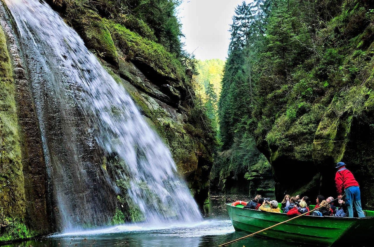
{"label": "mossy layered rock slope directly right of the waterfall", "polygon": [[[142,38],[101,18],[93,10],[69,9],[62,1],[49,3],[126,88],[148,124],[169,147],[191,193],[198,202],[203,202],[208,196],[213,144],[204,139],[201,129],[191,121],[194,93],[183,76],[184,71],[174,67],[172,57],[157,57],[165,54],[153,58],[147,49],[144,52],[148,55],[138,54],[144,48],[138,49],[131,42]],[[139,45],[159,49],[150,40]]]}

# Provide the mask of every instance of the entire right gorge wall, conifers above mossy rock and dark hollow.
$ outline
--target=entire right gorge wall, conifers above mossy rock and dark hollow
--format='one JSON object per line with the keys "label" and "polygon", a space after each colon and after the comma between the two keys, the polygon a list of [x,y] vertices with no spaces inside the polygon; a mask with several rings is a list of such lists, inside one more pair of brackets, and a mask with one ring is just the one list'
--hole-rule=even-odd
{"label": "entire right gorge wall, conifers above mossy rock and dark hollow", "polygon": [[256,0],[233,19],[219,104],[224,168],[240,171],[254,138],[276,199],[336,197],[343,161],[374,208],[372,1]]}

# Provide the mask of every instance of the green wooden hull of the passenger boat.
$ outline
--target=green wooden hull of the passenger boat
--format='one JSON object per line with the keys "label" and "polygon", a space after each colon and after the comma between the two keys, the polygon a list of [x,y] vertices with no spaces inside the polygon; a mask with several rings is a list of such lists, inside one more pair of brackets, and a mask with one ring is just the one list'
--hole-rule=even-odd
{"label": "green wooden hull of the passenger boat", "polygon": [[[283,213],[269,213],[226,204],[236,231],[254,233],[276,223],[288,220]],[[311,206],[311,208],[314,208]],[[302,216],[276,226],[258,235],[297,243],[331,246],[335,243],[363,244],[373,242],[374,211],[366,211],[368,217],[348,218],[332,216]]]}

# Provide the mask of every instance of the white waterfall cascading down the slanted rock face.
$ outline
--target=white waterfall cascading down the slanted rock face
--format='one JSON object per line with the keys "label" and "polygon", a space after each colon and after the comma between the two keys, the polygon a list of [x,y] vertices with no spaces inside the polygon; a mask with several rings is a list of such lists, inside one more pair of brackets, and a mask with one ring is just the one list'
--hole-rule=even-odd
{"label": "white waterfall cascading down the slanted rock face", "polygon": [[169,150],[79,35],[42,1],[5,2],[37,109],[59,230],[110,224],[123,188],[146,222],[201,220]]}

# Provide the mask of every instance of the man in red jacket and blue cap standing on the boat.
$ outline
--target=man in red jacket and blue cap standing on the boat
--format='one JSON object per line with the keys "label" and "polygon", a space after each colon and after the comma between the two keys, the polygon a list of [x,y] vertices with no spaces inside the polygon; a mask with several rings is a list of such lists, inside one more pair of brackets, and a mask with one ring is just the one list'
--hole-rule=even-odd
{"label": "man in red jacket and blue cap standing on the boat", "polygon": [[338,198],[341,199],[343,196],[343,190],[346,194],[346,205],[348,209],[348,217],[353,217],[353,207],[356,208],[358,217],[365,217],[364,211],[361,207],[361,194],[360,187],[353,177],[353,174],[346,168],[344,162],[336,164],[338,171],[335,175],[336,190],[338,192]]}

